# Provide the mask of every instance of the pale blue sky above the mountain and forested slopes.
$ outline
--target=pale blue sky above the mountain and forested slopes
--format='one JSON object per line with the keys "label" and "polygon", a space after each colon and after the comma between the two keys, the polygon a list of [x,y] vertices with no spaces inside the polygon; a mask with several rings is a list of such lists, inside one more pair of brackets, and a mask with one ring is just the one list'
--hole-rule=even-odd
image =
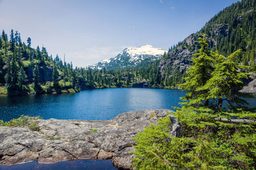
{"label": "pale blue sky above the mountain and forested slopes", "polygon": [[42,45],[75,66],[125,47],[168,49],[237,0],[0,0],[0,29]]}

